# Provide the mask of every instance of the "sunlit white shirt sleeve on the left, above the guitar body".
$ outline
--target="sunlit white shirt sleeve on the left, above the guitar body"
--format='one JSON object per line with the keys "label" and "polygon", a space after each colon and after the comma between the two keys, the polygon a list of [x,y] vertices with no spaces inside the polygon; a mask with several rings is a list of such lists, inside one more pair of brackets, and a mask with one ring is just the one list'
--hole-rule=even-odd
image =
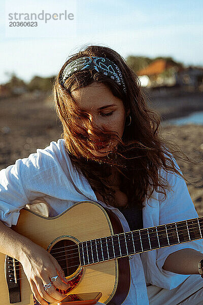
{"label": "sunlit white shirt sleeve on the left, above the guitar body", "polygon": [[56,193],[62,172],[59,156],[60,146],[51,142],[0,171],[0,220],[5,225],[16,225],[20,209],[32,200]]}

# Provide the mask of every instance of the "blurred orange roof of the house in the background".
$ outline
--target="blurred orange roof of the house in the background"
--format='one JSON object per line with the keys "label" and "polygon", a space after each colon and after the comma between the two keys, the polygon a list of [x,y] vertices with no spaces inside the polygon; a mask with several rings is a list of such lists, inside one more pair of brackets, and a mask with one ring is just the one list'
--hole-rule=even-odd
{"label": "blurred orange roof of the house in the background", "polygon": [[137,75],[141,76],[160,74],[166,69],[174,66],[176,66],[176,64],[172,63],[170,60],[157,59],[153,63],[149,64],[149,66],[147,66],[146,68],[138,71]]}

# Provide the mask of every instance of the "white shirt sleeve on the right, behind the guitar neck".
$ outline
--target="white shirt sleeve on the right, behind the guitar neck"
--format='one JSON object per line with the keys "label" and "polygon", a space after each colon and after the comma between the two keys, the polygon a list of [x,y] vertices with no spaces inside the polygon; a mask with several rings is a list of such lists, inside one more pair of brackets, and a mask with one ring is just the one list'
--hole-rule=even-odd
{"label": "white shirt sleeve on the right, behind the guitar neck", "polygon": [[[177,162],[175,160],[174,162],[180,170]],[[144,228],[197,218],[185,180],[178,174],[166,173],[163,169],[159,170],[159,174],[168,181],[171,190],[166,190],[166,198],[163,194],[154,191],[149,203],[143,208]],[[168,255],[186,248],[203,253],[202,239],[141,253],[146,283],[165,289],[173,289],[180,285],[189,275],[166,271],[162,266]]]}

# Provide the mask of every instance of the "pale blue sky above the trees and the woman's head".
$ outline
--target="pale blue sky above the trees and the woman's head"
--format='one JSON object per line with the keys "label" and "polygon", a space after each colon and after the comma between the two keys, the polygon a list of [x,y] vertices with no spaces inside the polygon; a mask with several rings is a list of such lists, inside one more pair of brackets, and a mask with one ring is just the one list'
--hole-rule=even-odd
{"label": "pale blue sky above the trees and the woman's head", "polygon": [[[5,0],[13,1],[13,0]],[[35,5],[36,12],[49,8],[71,11],[69,0],[20,0]],[[63,37],[13,37],[5,34],[7,22],[4,1],[1,9],[0,83],[15,72],[29,81],[34,75],[50,76],[60,70],[67,56],[83,45],[98,44],[128,55],[172,56],[185,65],[202,65],[203,1],[75,0],[76,32]],[[19,0],[16,2],[19,3]],[[71,0],[70,0],[71,3]],[[56,22],[55,22],[56,24]],[[57,23],[59,24],[59,23]],[[62,24],[62,23],[61,23]],[[64,24],[64,23],[63,23]],[[46,29],[54,33],[51,22]],[[57,29],[58,31],[58,29]],[[61,29],[62,31],[62,29]],[[60,36],[60,35],[59,35]]]}

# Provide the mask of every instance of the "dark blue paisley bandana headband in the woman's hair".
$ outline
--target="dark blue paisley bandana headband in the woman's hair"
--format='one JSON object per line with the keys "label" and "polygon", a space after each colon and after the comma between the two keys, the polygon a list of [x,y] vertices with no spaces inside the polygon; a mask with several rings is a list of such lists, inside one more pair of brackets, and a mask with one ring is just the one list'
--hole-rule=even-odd
{"label": "dark blue paisley bandana headband in the woman's hair", "polygon": [[119,85],[122,86],[123,91],[125,93],[127,92],[121,71],[118,68],[118,66],[108,58],[97,57],[97,56],[80,57],[73,60],[73,62],[65,66],[61,74],[60,84],[63,86],[65,80],[69,78],[76,71],[91,70],[91,69],[94,69],[97,72],[101,72],[104,75],[108,75],[109,77],[114,79]]}

